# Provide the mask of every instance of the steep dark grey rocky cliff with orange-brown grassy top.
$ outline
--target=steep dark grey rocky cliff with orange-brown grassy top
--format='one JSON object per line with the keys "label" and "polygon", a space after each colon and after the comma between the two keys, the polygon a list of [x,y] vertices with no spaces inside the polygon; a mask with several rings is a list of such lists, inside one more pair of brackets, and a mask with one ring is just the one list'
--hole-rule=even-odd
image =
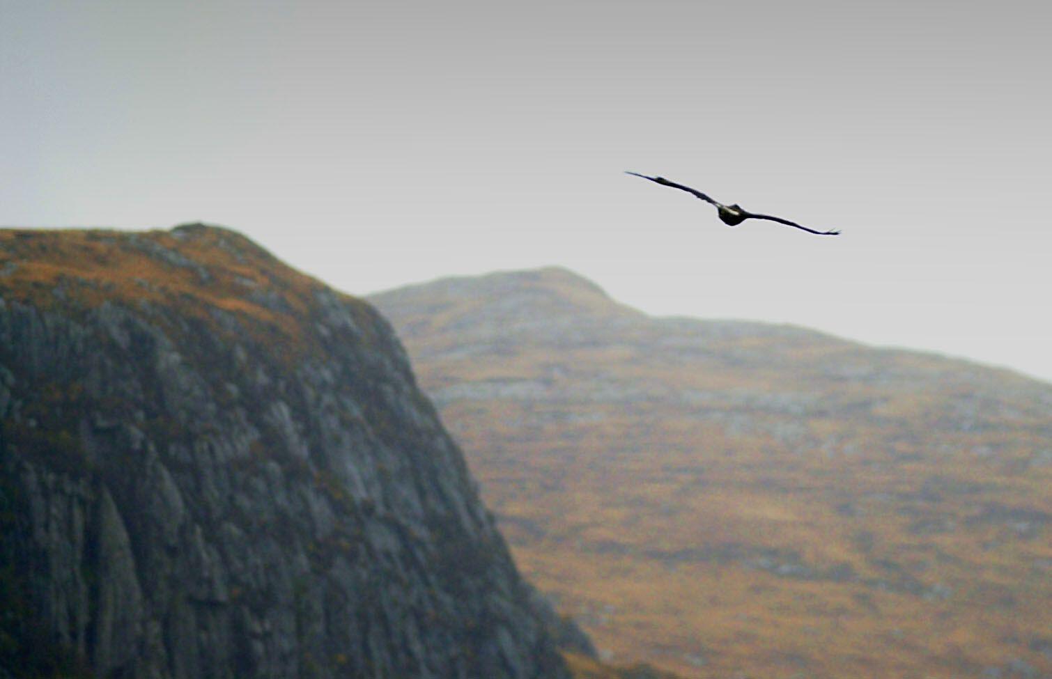
{"label": "steep dark grey rocky cliff with orange-brown grassy top", "polygon": [[243,236],[0,231],[0,677],[563,677],[368,305]]}

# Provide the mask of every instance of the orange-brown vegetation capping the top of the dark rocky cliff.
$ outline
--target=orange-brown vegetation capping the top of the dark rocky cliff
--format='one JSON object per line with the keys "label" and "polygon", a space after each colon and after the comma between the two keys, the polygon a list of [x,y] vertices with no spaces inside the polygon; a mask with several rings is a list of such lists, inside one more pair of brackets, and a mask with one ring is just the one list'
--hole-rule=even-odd
{"label": "orange-brown vegetation capping the top of the dark rocky cliff", "polygon": [[[88,310],[106,302],[178,310],[236,336],[250,333],[281,352],[309,350],[302,325],[327,288],[224,228],[170,230],[0,229],[0,293],[48,309]],[[350,301],[363,313],[366,305]],[[226,313],[235,324],[220,323]],[[163,322],[163,320],[161,320]],[[362,324],[368,330],[371,324]]]}

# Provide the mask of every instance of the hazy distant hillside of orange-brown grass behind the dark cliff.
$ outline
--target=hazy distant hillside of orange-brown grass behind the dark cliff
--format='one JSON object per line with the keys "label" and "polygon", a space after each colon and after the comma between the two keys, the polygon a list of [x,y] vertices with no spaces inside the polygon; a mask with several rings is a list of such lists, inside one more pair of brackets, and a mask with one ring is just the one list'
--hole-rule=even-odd
{"label": "hazy distant hillside of orange-brown grass behind the dark cliff", "polygon": [[1052,676],[1052,386],[563,269],[370,300],[517,561],[688,677]]}

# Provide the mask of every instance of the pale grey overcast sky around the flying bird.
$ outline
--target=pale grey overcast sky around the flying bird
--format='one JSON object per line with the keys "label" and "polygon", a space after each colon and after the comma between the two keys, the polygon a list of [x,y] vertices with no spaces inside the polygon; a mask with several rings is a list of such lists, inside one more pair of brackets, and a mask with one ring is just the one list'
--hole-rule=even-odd
{"label": "pale grey overcast sky around the flying bird", "polygon": [[205,221],[358,294],[563,265],[1048,380],[1050,6],[0,0],[0,224]]}

